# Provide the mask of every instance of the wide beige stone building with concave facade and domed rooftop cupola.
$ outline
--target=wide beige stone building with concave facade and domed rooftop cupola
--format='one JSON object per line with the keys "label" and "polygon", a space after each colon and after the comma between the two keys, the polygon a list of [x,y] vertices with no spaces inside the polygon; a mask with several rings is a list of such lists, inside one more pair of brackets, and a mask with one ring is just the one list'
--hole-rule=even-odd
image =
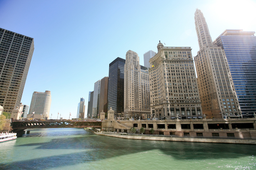
{"label": "wide beige stone building with concave facade and domed rooftop cupola", "polygon": [[164,47],[149,60],[152,118],[203,118],[190,47]]}

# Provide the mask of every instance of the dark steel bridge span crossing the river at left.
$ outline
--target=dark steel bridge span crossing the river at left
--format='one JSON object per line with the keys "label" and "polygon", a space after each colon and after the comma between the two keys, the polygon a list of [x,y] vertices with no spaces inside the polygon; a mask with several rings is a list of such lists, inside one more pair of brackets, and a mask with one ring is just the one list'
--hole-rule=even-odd
{"label": "dark steel bridge span crossing the river at left", "polygon": [[14,132],[36,128],[101,128],[102,121],[97,120],[12,120]]}

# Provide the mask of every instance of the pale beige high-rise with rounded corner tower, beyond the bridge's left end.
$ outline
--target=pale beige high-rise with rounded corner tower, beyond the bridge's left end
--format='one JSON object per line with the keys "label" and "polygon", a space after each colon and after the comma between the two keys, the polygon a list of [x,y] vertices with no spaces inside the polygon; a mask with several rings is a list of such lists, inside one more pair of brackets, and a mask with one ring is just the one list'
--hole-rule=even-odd
{"label": "pale beige high-rise with rounded corner tower, beyond the bridge's left end", "polygon": [[49,119],[51,108],[51,92],[37,92],[34,91],[30,103],[29,114],[40,114],[41,119]]}

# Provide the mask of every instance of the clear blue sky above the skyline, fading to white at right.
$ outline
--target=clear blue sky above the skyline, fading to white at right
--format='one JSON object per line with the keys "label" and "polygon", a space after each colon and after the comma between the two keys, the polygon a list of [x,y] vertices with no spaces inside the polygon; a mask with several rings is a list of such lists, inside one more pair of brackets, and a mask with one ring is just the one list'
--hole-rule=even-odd
{"label": "clear blue sky above the skyline, fading to white at right", "polygon": [[212,40],[225,29],[256,31],[256,2],[244,1],[85,1],[0,0],[0,27],[34,38],[35,50],[21,102],[34,91],[50,90],[50,115],[76,117],[80,97],[87,114],[89,91],[108,76],[115,58],[128,50],[157,52],[166,47],[199,50],[195,9],[203,12]]}

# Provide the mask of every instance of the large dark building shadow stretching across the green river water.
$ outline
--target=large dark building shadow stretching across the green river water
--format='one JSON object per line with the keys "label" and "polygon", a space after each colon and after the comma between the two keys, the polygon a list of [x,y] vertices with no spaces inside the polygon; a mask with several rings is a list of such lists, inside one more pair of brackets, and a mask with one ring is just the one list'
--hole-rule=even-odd
{"label": "large dark building shadow stretching across the green river water", "polygon": [[238,158],[241,156],[253,156],[256,153],[255,145],[130,140],[95,135],[89,132],[82,136],[56,138],[48,142],[16,145],[16,147],[23,146],[37,146],[33,149],[38,149],[38,151],[53,149],[58,152],[58,149],[73,149],[77,150],[77,152],[26,161],[2,163],[0,164],[0,169],[57,168],[152,150],[159,150],[176,160]]}

